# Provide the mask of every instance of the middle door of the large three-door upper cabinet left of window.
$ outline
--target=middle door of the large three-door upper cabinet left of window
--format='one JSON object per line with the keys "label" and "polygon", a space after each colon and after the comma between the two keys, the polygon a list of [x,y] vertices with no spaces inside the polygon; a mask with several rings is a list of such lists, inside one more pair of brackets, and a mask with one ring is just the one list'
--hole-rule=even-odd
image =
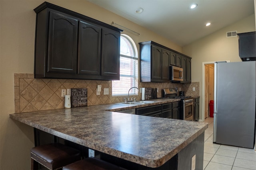
{"label": "middle door of the large three-door upper cabinet left of window", "polygon": [[101,27],[79,22],[78,74],[100,76]]}

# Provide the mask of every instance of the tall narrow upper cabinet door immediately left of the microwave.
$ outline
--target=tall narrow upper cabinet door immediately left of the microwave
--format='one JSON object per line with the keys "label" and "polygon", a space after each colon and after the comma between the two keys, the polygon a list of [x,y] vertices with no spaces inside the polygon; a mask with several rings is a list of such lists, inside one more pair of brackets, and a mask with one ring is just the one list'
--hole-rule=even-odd
{"label": "tall narrow upper cabinet door immediately left of the microwave", "polygon": [[162,49],[162,80],[169,80],[170,51]]}

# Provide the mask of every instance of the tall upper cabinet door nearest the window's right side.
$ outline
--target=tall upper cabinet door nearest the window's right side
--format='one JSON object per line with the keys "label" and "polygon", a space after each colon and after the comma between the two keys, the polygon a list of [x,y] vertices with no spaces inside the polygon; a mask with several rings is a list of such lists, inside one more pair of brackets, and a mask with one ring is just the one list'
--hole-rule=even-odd
{"label": "tall upper cabinet door nearest the window's right side", "polygon": [[152,45],[151,49],[152,53],[152,61],[151,61],[151,79],[162,79],[162,69],[161,69],[161,54],[162,54],[162,49],[160,47],[156,47]]}

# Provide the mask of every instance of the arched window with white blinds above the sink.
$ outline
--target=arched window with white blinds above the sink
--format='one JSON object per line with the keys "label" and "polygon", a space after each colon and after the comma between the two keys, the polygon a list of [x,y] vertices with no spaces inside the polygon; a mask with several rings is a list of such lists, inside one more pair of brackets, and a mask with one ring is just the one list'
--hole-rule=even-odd
{"label": "arched window with white blinds above the sink", "polygon": [[[128,95],[131,87],[138,87],[138,50],[134,41],[125,34],[120,37],[120,80],[112,81],[112,96]],[[130,95],[138,90],[130,90]]]}

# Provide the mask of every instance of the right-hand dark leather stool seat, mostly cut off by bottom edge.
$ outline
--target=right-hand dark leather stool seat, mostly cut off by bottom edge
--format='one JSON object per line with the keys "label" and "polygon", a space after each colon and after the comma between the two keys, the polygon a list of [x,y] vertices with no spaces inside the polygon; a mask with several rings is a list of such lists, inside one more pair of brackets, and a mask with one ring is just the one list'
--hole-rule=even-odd
{"label": "right-hand dark leather stool seat, mostly cut off by bottom edge", "polygon": [[86,158],[79,160],[67,166],[64,166],[62,170],[126,170],[120,166],[110,164],[104,160],[97,158]]}

